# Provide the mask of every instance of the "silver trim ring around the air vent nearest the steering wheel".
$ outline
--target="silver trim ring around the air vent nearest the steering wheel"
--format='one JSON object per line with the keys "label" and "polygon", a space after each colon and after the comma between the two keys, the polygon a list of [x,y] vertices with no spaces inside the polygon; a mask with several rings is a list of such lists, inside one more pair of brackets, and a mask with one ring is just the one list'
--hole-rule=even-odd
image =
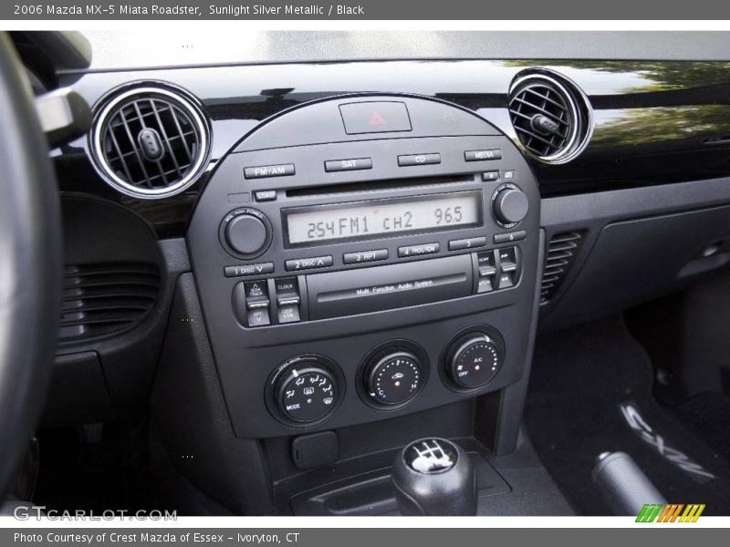
{"label": "silver trim ring around the air vent nearest the steering wheel", "polygon": [[[188,174],[186,174],[179,181],[174,182],[173,184],[165,188],[146,189],[133,186],[129,182],[123,181],[111,169],[107,160],[105,160],[105,154],[103,153],[102,149],[101,139],[104,133],[104,129],[106,128],[107,119],[110,117],[110,114],[112,112],[115,112],[120,104],[130,97],[144,94],[158,96],[162,95],[166,98],[171,99],[171,101],[176,106],[179,106],[186,114],[190,116],[200,139],[198,157],[193,162],[193,165],[188,171]],[[121,193],[130,197],[140,198],[142,200],[158,200],[161,198],[167,198],[179,194],[180,192],[185,191],[187,188],[192,186],[203,172],[205,162],[208,159],[208,148],[210,141],[208,135],[208,126],[205,119],[203,118],[203,113],[201,112],[200,108],[193,104],[191,100],[184,97],[183,92],[174,92],[167,88],[150,85],[133,87],[111,98],[95,116],[94,122],[91,127],[89,140],[91,146],[91,156],[93,160],[92,163],[94,165],[94,168],[99,173],[99,176],[101,176],[102,179],[107,181],[110,186],[112,186],[117,191],[120,191]]]}

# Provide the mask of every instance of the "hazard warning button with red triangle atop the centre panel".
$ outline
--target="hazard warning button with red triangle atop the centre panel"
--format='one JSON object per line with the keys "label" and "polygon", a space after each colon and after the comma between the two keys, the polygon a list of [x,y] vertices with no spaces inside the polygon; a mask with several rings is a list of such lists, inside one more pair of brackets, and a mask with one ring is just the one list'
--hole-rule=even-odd
{"label": "hazard warning button with red triangle atop the centre panel", "polygon": [[410,131],[411,118],[405,103],[399,101],[352,102],[339,105],[345,131],[358,133],[390,133]]}

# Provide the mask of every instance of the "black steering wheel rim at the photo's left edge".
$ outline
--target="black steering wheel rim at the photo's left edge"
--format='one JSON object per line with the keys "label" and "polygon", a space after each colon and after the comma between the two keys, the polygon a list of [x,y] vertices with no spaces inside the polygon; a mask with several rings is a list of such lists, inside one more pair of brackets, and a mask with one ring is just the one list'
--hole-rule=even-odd
{"label": "black steering wheel rim at the photo's left edge", "polygon": [[[0,35],[0,496],[43,410],[57,339],[56,176],[23,65]],[[2,501],[2,498],[0,498]]]}

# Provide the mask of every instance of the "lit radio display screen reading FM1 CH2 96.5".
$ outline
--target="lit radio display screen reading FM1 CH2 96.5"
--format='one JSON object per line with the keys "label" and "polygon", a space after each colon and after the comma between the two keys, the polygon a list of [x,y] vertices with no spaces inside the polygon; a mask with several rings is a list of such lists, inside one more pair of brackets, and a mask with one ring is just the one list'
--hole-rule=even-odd
{"label": "lit radio display screen reading FM1 CH2 96.5", "polygon": [[372,239],[482,224],[482,192],[352,201],[285,209],[287,243],[305,246],[332,240]]}

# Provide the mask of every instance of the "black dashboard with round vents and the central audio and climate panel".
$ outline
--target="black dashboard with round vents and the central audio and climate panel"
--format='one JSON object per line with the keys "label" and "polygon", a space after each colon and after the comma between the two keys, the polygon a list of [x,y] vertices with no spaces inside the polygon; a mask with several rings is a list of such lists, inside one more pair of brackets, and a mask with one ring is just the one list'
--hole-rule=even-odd
{"label": "black dashboard with round vents and the central audio and climate panel", "polygon": [[162,443],[202,454],[183,473],[249,512],[229,484],[241,461],[291,484],[308,468],[291,438],[358,430],[377,450],[424,419],[451,433],[478,417],[488,448],[510,452],[538,331],[730,263],[724,61],[56,77],[94,122],[52,152],[67,234],[57,397],[86,397],[47,419],[139,414],[151,391]]}

